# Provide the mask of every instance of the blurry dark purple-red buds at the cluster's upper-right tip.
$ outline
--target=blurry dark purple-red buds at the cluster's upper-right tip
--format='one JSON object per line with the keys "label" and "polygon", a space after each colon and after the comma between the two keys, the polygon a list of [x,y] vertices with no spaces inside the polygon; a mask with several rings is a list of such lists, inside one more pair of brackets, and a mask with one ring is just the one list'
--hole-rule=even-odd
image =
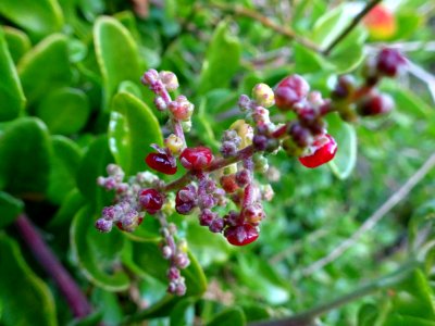
{"label": "blurry dark purple-red buds at the cluster's upper-right tip", "polygon": [[358,116],[377,116],[394,109],[390,96],[380,92],[376,85],[383,77],[394,78],[406,66],[406,59],[396,49],[383,49],[377,55],[369,58],[362,71],[364,83],[358,87],[350,75],[338,77],[332,91],[332,106],[341,118],[353,122]]}

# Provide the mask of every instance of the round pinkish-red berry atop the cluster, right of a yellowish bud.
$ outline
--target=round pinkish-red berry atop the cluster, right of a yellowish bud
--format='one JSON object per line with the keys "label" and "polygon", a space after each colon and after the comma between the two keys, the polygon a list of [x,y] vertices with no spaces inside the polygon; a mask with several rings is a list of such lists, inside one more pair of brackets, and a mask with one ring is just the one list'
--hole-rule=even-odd
{"label": "round pinkish-red berry atop the cluster, right of a yellowish bud", "polygon": [[288,76],[276,86],[275,104],[281,110],[291,110],[293,105],[302,100],[309,90],[310,86],[301,76]]}

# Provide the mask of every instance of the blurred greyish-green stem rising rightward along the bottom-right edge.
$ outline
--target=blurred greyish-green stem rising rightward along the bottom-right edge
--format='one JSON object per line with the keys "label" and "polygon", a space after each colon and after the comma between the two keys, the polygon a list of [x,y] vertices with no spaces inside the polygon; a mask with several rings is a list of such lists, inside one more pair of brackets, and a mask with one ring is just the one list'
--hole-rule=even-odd
{"label": "blurred greyish-green stem rising rightward along the bottom-right edge", "polygon": [[378,278],[372,283],[363,285],[357,288],[355,291],[339,297],[331,302],[326,302],[314,306],[306,312],[300,314],[296,314],[294,316],[276,319],[276,321],[268,321],[268,322],[260,322],[250,324],[251,326],[303,326],[303,325],[311,325],[313,319],[324,313],[337,309],[344,304],[347,304],[351,301],[358,300],[362,297],[371,294],[382,289],[387,289],[398,285],[400,281],[406,279],[412,272],[419,268],[421,263],[417,261],[409,261],[405,263],[402,266],[397,268],[396,272],[388,274],[382,278]]}

